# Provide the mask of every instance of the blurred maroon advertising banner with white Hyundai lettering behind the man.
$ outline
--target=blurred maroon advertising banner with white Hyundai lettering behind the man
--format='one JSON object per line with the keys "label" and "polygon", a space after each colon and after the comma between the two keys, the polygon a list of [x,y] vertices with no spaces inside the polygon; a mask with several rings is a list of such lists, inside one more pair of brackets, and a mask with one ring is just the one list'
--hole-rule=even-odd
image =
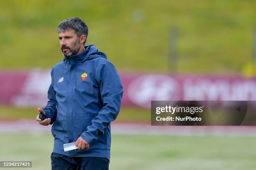
{"label": "blurred maroon advertising banner with white Hyundai lettering behind the man", "polygon": [[[81,76],[81,75],[77,75]],[[120,74],[123,107],[150,108],[151,100],[256,100],[256,78]],[[50,71],[1,71],[0,104],[44,106]]]}

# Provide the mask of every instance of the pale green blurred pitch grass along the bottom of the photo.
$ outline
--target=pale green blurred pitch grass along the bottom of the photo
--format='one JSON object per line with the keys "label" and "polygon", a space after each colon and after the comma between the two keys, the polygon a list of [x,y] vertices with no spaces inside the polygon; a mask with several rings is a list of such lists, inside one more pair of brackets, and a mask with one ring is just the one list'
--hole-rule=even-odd
{"label": "pale green blurred pitch grass along the bottom of the photo", "polygon": [[[29,160],[32,169],[50,169],[51,134],[0,134],[0,138],[0,160]],[[113,135],[110,170],[255,170],[255,141],[255,137]]]}

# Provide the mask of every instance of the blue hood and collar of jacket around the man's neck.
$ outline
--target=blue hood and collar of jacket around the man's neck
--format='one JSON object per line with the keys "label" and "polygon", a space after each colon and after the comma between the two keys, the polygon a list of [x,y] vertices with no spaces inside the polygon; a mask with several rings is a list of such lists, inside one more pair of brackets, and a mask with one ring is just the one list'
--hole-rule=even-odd
{"label": "blue hood and collar of jacket around the man's neck", "polygon": [[98,48],[94,44],[85,46],[84,48],[85,50],[82,53],[70,57],[65,57],[64,63],[73,65],[75,63],[84,62],[98,57],[103,57],[107,59],[107,55],[98,51]]}

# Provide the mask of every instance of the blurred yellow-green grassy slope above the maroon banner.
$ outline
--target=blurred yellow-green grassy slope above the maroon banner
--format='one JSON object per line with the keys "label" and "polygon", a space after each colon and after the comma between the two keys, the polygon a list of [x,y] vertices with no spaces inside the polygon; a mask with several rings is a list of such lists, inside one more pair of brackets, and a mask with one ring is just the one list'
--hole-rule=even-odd
{"label": "blurred yellow-green grassy slope above the maroon banner", "polygon": [[89,26],[87,44],[96,44],[118,70],[172,70],[169,30],[176,27],[176,71],[240,73],[251,59],[255,8],[250,0],[2,1],[0,67],[51,68],[62,60],[56,26],[77,16]]}

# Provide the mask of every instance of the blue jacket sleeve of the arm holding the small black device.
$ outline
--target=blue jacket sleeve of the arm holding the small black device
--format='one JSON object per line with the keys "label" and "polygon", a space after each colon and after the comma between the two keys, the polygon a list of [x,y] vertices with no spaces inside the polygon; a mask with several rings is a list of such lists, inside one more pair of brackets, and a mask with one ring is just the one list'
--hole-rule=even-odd
{"label": "blue jacket sleeve of the arm holding the small black device", "polygon": [[51,84],[48,90],[48,102],[47,105],[43,108],[44,112],[46,113],[47,118],[51,118],[51,124],[53,124],[57,117],[57,101],[56,101],[56,91],[54,91],[53,87],[53,69],[51,70]]}

